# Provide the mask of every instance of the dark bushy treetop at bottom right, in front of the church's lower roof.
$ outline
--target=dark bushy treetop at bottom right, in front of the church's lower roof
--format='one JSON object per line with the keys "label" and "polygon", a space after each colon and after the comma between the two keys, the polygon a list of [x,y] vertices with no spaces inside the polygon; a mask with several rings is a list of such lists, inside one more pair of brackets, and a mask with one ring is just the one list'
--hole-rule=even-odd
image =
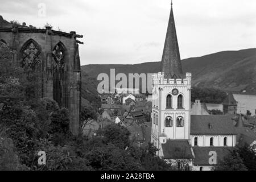
{"label": "dark bushy treetop at bottom right, in front of the church's lower roof", "polygon": [[247,171],[243,160],[236,150],[230,151],[228,155],[220,161],[217,167],[213,168],[214,171]]}

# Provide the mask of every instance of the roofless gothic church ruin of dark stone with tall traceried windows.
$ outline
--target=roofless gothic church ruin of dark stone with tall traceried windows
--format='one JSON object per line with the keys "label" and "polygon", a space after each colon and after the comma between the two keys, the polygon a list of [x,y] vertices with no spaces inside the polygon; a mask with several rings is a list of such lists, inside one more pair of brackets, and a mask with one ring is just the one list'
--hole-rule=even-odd
{"label": "roofless gothic church ruin of dark stone with tall traceried windows", "polygon": [[42,71],[40,96],[55,100],[70,112],[70,128],[79,133],[81,106],[81,69],[79,43],[75,31],[65,33],[51,26],[38,29],[9,23],[0,16],[0,46],[13,52],[13,63]]}

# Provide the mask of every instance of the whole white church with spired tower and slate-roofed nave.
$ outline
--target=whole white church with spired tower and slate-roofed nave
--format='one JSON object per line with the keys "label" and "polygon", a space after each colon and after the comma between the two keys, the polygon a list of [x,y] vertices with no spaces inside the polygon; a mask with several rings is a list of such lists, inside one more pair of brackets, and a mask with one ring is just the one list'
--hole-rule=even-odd
{"label": "whole white church with spired tower and slate-roofed nave", "polygon": [[[160,158],[177,168],[210,170],[237,145],[237,134],[241,131],[234,126],[238,125],[234,115],[209,115],[202,110],[200,101],[192,110],[191,82],[191,73],[183,75],[171,6],[162,72],[152,76],[151,143],[159,149]],[[236,101],[231,94],[224,104],[228,113],[236,114]],[[254,139],[251,137],[250,142]]]}

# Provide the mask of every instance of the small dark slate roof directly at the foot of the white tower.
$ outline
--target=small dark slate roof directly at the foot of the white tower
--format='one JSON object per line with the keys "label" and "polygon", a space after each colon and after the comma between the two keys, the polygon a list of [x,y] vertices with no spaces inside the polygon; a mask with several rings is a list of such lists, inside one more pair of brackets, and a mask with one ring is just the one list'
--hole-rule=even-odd
{"label": "small dark slate roof directly at the foot of the white tower", "polygon": [[164,159],[193,159],[188,140],[167,140],[162,144]]}

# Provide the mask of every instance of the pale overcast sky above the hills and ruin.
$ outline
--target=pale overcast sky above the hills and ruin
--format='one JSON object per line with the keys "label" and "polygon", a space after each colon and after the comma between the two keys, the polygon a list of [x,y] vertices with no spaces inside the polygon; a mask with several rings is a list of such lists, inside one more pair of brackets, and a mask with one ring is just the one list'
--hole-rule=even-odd
{"label": "pale overcast sky above the hills and ruin", "polygon": [[[45,3],[46,16],[39,16]],[[255,0],[174,0],[181,59],[256,47]],[[84,35],[81,64],[160,61],[170,0],[0,0],[4,19]]]}

